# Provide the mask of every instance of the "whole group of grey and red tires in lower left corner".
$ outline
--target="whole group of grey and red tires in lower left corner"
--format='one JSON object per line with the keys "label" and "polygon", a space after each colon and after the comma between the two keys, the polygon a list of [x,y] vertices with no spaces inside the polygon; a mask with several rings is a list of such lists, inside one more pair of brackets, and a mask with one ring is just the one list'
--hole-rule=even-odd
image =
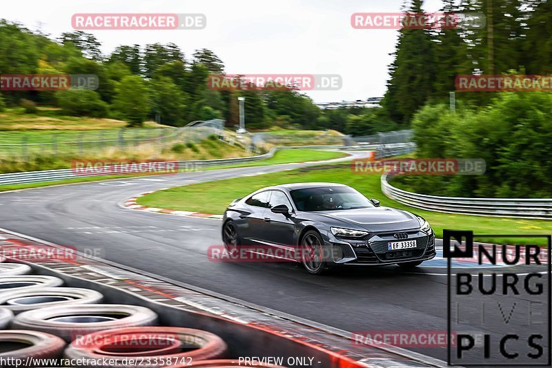
{"label": "whole group of grey and red tires in lower left corner", "polygon": [[[8,362],[2,367],[61,357],[90,362],[79,367],[226,364],[217,360],[224,357],[226,343],[213,333],[159,327],[157,313],[148,308],[101,304],[98,291],[63,287],[63,280],[31,271],[26,264],[0,260],[0,358]],[[103,361],[110,365],[98,365]]]}

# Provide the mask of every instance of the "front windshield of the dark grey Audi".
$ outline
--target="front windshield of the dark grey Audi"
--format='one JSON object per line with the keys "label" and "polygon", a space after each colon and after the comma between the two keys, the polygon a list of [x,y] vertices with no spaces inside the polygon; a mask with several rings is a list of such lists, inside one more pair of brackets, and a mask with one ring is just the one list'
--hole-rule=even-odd
{"label": "front windshield of the dark grey Audi", "polygon": [[299,211],[337,211],[374,207],[368,198],[348,186],[296,189],[290,193]]}

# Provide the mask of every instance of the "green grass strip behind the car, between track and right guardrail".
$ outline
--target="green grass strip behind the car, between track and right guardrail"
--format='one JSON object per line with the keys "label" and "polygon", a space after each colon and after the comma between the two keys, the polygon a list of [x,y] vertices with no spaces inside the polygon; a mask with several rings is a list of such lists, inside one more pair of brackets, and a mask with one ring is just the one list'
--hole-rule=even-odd
{"label": "green grass strip behind the car, between track and right guardrail", "polygon": [[[506,217],[483,217],[471,215],[454,215],[415,209],[405,206],[386,197],[380,188],[379,175],[359,175],[351,171],[349,166],[315,166],[315,168],[299,168],[284,173],[270,173],[255,177],[235,178],[193,184],[157,191],[140,197],[139,204],[144,206],[177,209],[184,211],[198,211],[206,213],[223,213],[224,209],[235,198],[244,197],[264,186],[286,184],[293,182],[339,182],[353,186],[366,197],[377,198],[382,206],[392,206],[398,209],[411,211],[424,217],[435,230],[438,237],[442,237],[443,229],[472,230],[476,234],[546,234],[552,233],[550,220],[523,220]],[[483,240],[482,240],[483,241]],[[521,238],[487,239],[485,242],[517,242],[524,244]],[[544,240],[525,240],[544,244]]]}

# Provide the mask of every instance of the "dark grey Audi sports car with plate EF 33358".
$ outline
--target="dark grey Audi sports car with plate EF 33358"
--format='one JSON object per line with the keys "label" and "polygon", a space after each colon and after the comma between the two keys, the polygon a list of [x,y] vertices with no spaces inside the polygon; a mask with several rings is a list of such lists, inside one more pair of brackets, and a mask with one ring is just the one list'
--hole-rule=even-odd
{"label": "dark grey Audi sports car with plate EF 33358", "polygon": [[313,274],[346,265],[416,267],[435,257],[435,235],[422,217],[333,183],[269,186],[234,200],[222,239],[229,254],[262,249]]}

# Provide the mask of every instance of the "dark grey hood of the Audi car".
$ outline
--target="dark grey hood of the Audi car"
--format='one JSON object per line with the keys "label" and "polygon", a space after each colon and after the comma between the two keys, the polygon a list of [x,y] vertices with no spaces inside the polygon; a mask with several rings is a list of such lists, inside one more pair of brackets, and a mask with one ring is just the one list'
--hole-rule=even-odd
{"label": "dark grey hood of the Audi car", "polygon": [[[326,218],[331,218],[332,223],[342,222],[342,226],[355,224],[362,229],[369,231],[400,231],[416,229],[420,227],[420,222],[412,213],[391,209],[389,207],[375,207],[370,209],[350,209],[342,211],[324,211],[319,212]],[[338,224],[332,226],[339,226]]]}

